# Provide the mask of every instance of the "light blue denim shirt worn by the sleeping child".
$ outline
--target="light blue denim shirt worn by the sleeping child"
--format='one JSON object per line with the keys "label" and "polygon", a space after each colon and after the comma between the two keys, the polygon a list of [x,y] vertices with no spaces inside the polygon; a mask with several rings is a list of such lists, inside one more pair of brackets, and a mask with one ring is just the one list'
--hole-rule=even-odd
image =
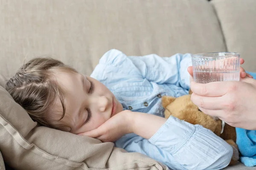
{"label": "light blue denim shirt worn by the sleeping child", "polygon": [[[103,55],[91,77],[106,85],[124,110],[164,117],[161,96],[188,94],[189,65],[190,54],[132,57],[113,49]],[[174,170],[219,170],[229,164],[233,154],[232,147],[212,131],[172,116],[151,139],[129,133],[115,145],[143,153]]]}

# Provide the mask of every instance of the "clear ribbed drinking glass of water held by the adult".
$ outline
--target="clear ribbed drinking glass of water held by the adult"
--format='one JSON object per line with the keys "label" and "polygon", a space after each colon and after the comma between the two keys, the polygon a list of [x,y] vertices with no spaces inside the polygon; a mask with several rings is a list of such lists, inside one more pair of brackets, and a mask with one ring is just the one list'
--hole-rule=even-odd
{"label": "clear ribbed drinking glass of water held by the adult", "polygon": [[216,52],[192,55],[195,82],[239,81],[240,54]]}

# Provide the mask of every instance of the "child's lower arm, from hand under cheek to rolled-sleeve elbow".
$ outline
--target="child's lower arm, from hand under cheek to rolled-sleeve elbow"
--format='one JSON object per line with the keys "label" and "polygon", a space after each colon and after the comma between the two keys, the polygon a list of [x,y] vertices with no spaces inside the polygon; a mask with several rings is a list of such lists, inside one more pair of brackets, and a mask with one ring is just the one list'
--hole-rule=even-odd
{"label": "child's lower arm, from hand under cheek to rolled-sleeve elbow", "polygon": [[[233,149],[212,131],[172,116],[169,119],[147,113],[122,111],[96,130],[84,133],[117,147],[139,152],[161,161],[173,169],[222,169]],[[136,133],[137,135],[135,135]]]}

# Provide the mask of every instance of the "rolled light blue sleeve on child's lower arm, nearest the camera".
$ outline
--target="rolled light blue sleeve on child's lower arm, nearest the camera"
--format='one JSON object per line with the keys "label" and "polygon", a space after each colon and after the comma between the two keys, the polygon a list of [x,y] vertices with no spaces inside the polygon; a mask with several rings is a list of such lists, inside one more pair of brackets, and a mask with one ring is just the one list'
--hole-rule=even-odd
{"label": "rolled light blue sleeve on child's lower arm, nearest the camera", "polygon": [[212,131],[172,116],[151,139],[128,134],[116,146],[148,155],[175,170],[223,169],[233,155],[232,147]]}

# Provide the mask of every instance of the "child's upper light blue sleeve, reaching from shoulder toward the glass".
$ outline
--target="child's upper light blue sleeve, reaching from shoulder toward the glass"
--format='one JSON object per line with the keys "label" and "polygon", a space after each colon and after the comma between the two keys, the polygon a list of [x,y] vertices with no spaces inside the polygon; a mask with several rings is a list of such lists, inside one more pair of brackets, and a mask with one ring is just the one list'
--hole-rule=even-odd
{"label": "child's upper light blue sleeve, reaching from shoulder toward the glass", "polygon": [[108,76],[114,82],[129,78],[147,79],[158,84],[169,83],[189,89],[187,68],[190,65],[190,54],[175,54],[172,57],[150,54],[135,57],[112,49],[102,56],[91,77],[104,81]]}

